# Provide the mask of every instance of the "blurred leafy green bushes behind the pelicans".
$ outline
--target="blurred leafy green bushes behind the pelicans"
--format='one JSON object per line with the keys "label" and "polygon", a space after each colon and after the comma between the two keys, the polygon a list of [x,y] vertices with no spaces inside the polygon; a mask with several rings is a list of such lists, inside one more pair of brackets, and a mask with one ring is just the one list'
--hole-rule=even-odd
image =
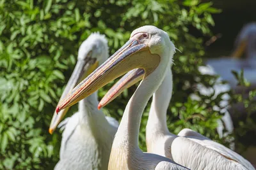
{"label": "blurred leafy green bushes behind the pelicans", "polygon": [[[48,128],[76,64],[79,45],[90,33],[99,31],[106,34],[112,54],[142,25],[156,25],[168,32],[180,50],[172,68],[170,131],[177,134],[188,127],[225,146],[235,138],[236,151],[253,161],[255,157],[247,154],[256,145],[252,141],[256,136],[253,115],[235,121],[234,133],[220,138],[216,121],[222,114],[212,106],[220,106],[223,94],[212,99],[195,88],[198,82],[206,87],[214,85],[217,76],[200,74],[198,66],[207,57],[231,53],[243,24],[255,20],[253,4],[239,0],[0,0],[0,169],[53,169],[59,159],[61,132],[50,135]],[[205,41],[218,33],[221,38],[206,46]],[[239,80],[240,86],[246,85],[243,77]],[[99,96],[104,96],[113,83],[101,89]],[[135,89],[125,90],[104,113],[120,120]],[[202,100],[192,101],[190,94],[198,94]],[[233,91],[229,94],[231,104],[241,102],[246,111],[255,111],[255,91],[248,99]],[[144,151],[149,107],[140,129]],[[76,110],[77,105],[67,116]]]}

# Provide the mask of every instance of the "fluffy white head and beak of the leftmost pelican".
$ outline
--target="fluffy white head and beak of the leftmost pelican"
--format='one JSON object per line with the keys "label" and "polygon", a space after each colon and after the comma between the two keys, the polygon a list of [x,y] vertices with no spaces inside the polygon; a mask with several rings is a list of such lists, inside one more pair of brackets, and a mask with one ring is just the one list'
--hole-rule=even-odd
{"label": "fluffy white head and beak of the leftmost pelican", "polygon": [[[86,76],[92,73],[100,64],[102,64],[106,59],[108,59],[108,41],[104,35],[99,33],[92,33],[90,36],[83,41],[78,50],[77,64],[76,67],[68,80],[67,87],[61,99],[67,96],[67,94]],[[56,129],[58,124],[60,124],[63,117],[65,117],[68,108],[61,110],[58,115],[56,111],[51,120],[51,125],[49,127],[49,133]]]}

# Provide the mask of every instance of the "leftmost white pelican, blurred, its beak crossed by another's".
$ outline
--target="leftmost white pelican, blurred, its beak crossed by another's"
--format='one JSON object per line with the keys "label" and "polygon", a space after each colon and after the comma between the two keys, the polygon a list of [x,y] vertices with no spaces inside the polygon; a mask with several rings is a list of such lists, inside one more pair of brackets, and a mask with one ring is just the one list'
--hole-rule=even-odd
{"label": "leftmost white pelican, blurred, its beak crossed by another's", "polygon": [[[61,98],[106,59],[107,39],[98,33],[91,34],[79,47],[76,67]],[[61,140],[60,161],[54,169],[108,169],[118,122],[97,110],[98,103],[97,92],[94,92],[79,102],[77,113],[61,122],[65,130]],[[67,110],[60,111],[58,115],[54,113],[50,133],[56,129]]]}

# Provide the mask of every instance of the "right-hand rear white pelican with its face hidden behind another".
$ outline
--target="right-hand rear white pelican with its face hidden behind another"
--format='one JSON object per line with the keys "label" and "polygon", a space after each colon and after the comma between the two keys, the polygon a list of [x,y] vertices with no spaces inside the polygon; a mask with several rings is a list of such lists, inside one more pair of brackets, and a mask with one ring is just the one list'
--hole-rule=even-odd
{"label": "right-hand rear white pelican with its face hidden behind another", "polygon": [[[98,108],[140,81],[143,74],[143,69],[125,74],[102,98]],[[191,169],[254,169],[241,155],[191,129],[183,129],[178,136],[168,131],[166,111],[172,97],[172,83],[172,71],[168,69],[163,83],[153,95],[146,127],[147,151],[173,159]]]}

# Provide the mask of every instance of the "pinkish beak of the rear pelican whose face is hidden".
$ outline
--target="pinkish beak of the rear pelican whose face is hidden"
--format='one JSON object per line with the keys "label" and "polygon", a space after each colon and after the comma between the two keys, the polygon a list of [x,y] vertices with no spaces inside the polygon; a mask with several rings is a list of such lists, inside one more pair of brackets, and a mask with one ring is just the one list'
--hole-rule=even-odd
{"label": "pinkish beak of the rear pelican whose face is hidden", "polygon": [[106,106],[108,103],[113,101],[117,96],[119,96],[125,89],[128,89],[138,81],[142,80],[144,76],[144,69],[133,69],[126,73],[119,81],[108,90],[105,96],[101,99],[98,109]]}

